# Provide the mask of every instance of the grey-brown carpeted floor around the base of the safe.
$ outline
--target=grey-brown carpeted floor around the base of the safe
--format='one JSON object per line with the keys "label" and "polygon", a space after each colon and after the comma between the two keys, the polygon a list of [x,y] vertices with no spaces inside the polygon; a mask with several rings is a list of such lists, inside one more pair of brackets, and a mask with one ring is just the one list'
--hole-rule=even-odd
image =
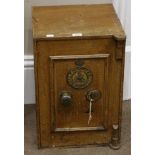
{"label": "grey-brown carpeted floor around the base of the safe", "polygon": [[131,154],[131,101],[123,104],[122,140],[119,150],[105,147],[38,149],[36,138],[35,105],[25,105],[25,155],[130,155]]}

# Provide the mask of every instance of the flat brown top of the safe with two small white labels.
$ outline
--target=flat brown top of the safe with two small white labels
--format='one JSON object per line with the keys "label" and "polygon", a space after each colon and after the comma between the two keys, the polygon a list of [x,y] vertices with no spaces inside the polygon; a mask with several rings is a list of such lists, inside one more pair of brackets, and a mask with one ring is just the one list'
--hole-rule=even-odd
{"label": "flat brown top of the safe with two small white labels", "polygon": [[34,39],[111,36],[125,39],[112,4],[33,7],[32,18]]}

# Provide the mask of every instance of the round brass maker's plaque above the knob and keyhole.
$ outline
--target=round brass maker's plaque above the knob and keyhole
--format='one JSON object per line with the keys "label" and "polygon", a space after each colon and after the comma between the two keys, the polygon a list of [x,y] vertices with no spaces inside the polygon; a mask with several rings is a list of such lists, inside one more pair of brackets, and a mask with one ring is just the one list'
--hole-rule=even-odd
{"label": "round brass maker's plaque above the knob and keyhole", "polygon": [[91,70],[85,67],[77,67],[71,69],[67,74],[68,84],[76,89],[87,87],[93,79]]}

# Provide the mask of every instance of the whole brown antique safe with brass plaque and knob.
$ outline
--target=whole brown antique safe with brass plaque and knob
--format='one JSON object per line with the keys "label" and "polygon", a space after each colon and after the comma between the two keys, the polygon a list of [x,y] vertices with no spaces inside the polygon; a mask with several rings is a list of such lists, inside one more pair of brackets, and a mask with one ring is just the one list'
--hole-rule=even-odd
{"label": "whole brown antique safe with brass plaque and knob", "polygon": [[32,9],[38,147],[120,147],[125,33],[111,4]]}

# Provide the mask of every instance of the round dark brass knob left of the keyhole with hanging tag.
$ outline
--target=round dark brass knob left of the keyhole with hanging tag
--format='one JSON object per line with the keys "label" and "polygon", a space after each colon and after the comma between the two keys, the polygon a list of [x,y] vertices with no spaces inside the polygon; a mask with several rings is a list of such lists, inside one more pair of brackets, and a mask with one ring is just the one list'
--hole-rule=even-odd
{"label": "round dark brass knob left of the keyhole with hanging tag", "polygon": [[60,95],[61,103],[65,106],[68,107],[72,104],[72,94],[68,91],[62,91]]}

